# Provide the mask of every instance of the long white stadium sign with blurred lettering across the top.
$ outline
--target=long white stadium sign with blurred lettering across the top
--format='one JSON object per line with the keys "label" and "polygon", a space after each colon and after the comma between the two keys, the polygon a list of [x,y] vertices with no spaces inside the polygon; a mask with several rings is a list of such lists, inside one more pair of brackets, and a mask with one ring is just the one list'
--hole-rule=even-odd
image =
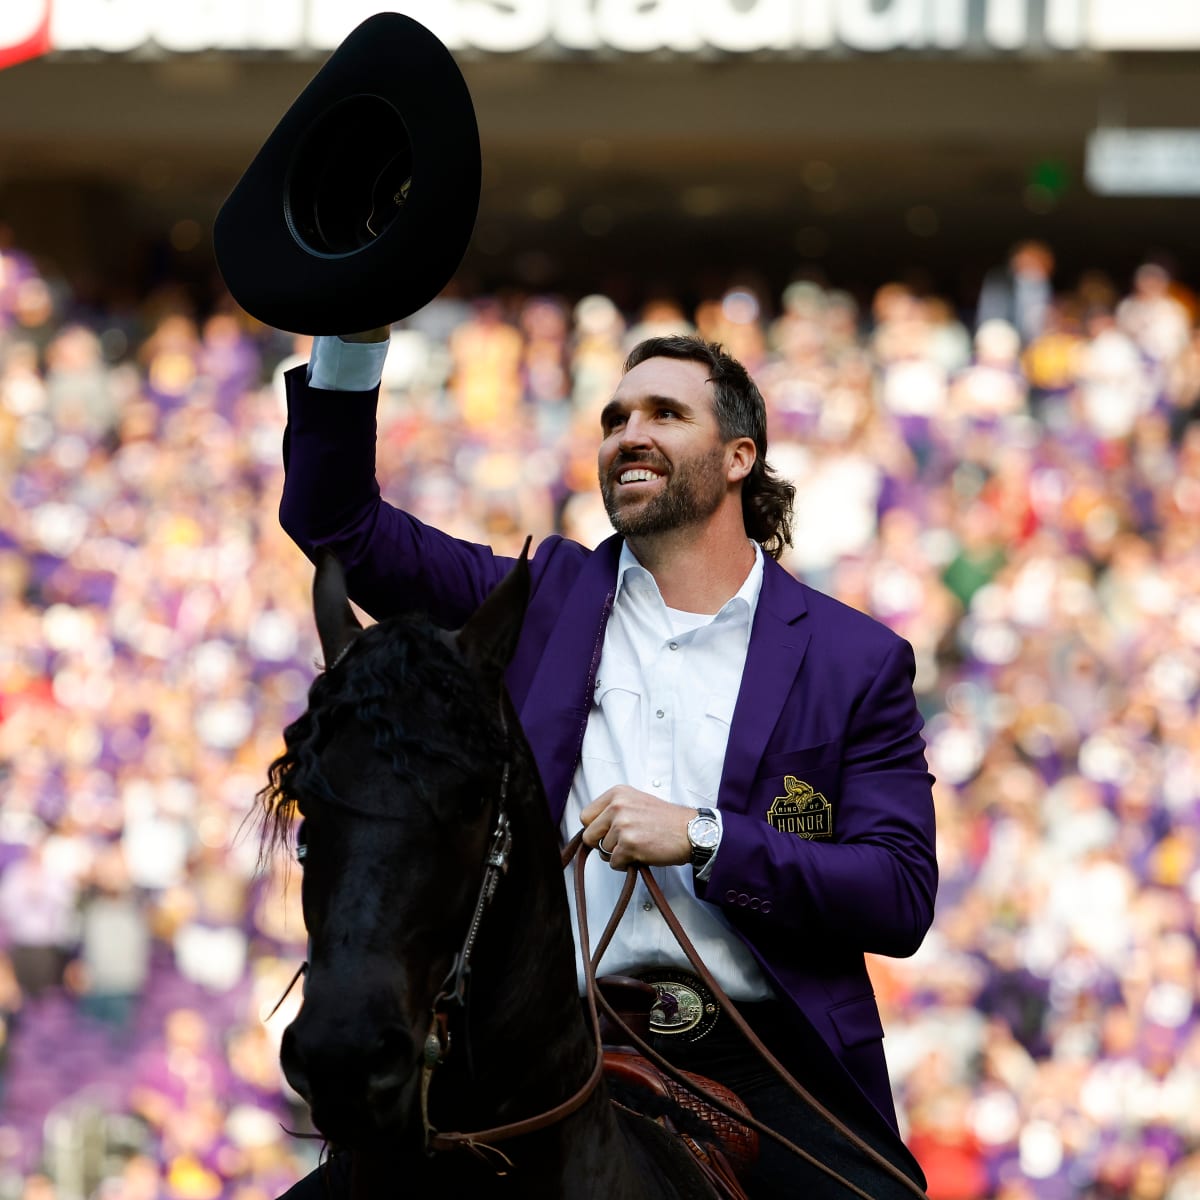
{"label": "long white stadium sign with blurred lettering across the top", "polygon": [[[49,52],[323,53],[376,0],[0,0],[0,66]],[[1200,48],[1182,0],[397,0],[485,54],[948,54]]]}

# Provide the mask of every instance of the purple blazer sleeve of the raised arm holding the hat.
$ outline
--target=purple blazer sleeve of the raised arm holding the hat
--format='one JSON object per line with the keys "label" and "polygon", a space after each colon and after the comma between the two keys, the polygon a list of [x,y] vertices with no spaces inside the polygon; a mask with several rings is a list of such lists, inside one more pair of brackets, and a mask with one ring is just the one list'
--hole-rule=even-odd
{"label": "purple blazer sleeve of the raised arm holding the hat", "polygon": [[388,504],[376,480],[378,389],[318,391],[306,367],[286,376],[280,524],[311,558],[334,551],[350,596],[373,618],[409,610],[457,628],[512,565]]}

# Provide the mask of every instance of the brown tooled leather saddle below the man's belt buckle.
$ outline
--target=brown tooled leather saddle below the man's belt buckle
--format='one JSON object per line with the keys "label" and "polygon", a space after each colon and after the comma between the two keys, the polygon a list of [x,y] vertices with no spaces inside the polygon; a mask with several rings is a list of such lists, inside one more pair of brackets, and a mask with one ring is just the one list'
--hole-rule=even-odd
{"label": "brown tooled leather saddle below the man's belt buckle", "polygon": [[[628,976],[605,976],[596,986],[628,1030],[642,1040],[650,1037],[650,1009],[658,1000],[654,988]],[[604,1043],[605,1079],[620,1086],[630,1105],[659,1121],[677,1134],[691,1151],[718,1194],[725,1200],[746,1200],[739,1182],[758,1157],[758,1134],[721,1109],[708,1103],[704,1093],[715,1097],[734,1112],[750,1115],[742,1099],[715,1080],[692,1072],[680,1072],[688,1084],[673,1079],[630,1045],[626,1030],[601,1013],[600,1037]],[[636,1097],[653,1098],[638,1106]],[[672,1116],[672,1110],[676,1116]],[[683,1116],[678,1114],[682,1111]]]}

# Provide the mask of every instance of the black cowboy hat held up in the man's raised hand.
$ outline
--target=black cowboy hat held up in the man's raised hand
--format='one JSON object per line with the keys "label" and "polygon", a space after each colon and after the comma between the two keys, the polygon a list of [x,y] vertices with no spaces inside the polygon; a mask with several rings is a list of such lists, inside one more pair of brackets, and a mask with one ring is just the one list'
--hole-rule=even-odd
{"label": "black cowboy hat held up in the man's raised hand", "polygon": [[479,130],[450,52],[384,12],[330,55],[217,214],[217,266],[252,317],[350,334],[428,304],[479,210]]}

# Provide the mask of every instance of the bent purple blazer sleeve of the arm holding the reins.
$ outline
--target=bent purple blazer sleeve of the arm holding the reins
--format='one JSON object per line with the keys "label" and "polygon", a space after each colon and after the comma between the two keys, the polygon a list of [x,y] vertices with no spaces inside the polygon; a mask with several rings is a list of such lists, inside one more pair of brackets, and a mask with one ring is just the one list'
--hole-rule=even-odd
{"label": "bent purple blazer sleeve of the arm holding the reins", "polygon": [[[803,935],[830,952],[913,954],[934,918],[932,776],[899,637],[865,672],[840,746],[836,838],[805,840],[755,812],[722,812],[707,884],[751,943]],[[701,890],[702,889],[702,890]]]}

